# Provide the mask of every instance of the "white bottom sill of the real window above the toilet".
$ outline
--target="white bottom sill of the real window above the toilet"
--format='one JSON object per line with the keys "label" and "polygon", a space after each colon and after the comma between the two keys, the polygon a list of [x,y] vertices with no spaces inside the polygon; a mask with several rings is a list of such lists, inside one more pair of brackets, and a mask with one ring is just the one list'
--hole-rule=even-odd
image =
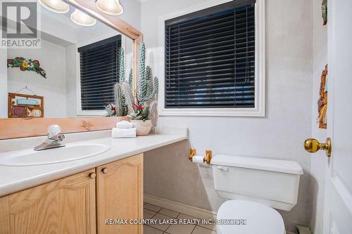
{"label": "white bottom sill of the real window above the toilet", "polygon": [[205,109],[163,109],[159,116],[213,116],[213,117],[265,117],[264,110],[256,108],[205,108]]}

